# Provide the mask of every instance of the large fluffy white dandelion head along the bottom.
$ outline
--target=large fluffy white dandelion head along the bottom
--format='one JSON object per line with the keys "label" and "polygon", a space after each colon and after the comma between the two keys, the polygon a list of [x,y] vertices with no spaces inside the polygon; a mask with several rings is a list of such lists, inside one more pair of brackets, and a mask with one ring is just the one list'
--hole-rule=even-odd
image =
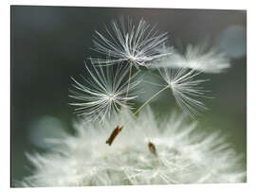
{"label": "large fluffy white dandelion head along the bottom", "polygon": [[[50,152],[27,155],[33,174],[19,186],[83,186],[116,184],[241,183],[246,181],[244,157],[221,132],[198,131],[183,115],[156,120],[150,108],[139,120],[122,113],[119,120],[75,125],[76,135],[51,139]],[[121,121],[125,128],[109,147],[110,131]],[[155,144],[157,156],[148,148]]]}

